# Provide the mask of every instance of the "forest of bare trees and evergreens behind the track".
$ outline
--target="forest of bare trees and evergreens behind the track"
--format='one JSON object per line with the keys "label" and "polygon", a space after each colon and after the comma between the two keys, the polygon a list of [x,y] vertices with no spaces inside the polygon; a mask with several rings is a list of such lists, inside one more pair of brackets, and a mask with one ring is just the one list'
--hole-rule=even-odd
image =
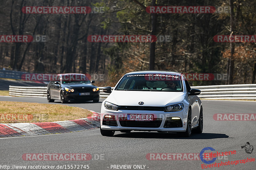
{"label": "forest of bare trees and evergreens behind the track", "polygon": [[[105,74],[113,86],[138,70],[227,73],[227,81],[256,83],[255,42],[215,42],[215,35],[255,35],[256,0],[7,0],[0,35],[46,35],[46,42],[0,43],[0,68],[34,73]],[[102,13],[25,14],[24,6],[90,6]],[[147,6],[228,6],[228,13],[149,14]],[[171,42],[89,42],[89,35],[170,35]]]}

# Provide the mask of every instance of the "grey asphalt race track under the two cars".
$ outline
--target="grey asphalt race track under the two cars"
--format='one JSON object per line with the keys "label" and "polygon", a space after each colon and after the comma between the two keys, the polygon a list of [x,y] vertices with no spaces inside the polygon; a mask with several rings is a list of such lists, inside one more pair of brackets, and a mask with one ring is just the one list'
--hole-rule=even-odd
{"label": "grey asphalt race track under the two cars", "polygon": [[[42,98],[0,97],[0,100],[47,103],[46,99]],[[100,101],[102,102],[103,99]],[[101,102],[68,103],[67,105],[100,112]],[[212,147],[218,152],[236,151],[236,154],[229,155],[228,158],[217,159],[215,161],[217,164],[221,161],[231,162],[250,157],[255,159],[256,149],[249,154],[241,149],[241,146],[249,142],[256,147],[256,122],[215,121],[213,115],[216,113],[255,114],[256,102],[213,100],[203,100],[202,102],[204,108],[202,134],[192,134],[191,137],[184,138],[176,133],[133,131],[128,134],[116,132],[113,137],[103,137],[100,135],[100,129],[94,129],[56,135],[0,138],[0,165],[11,167],[12,165],[50,165],[55,166],[55,169],[62,169],[56,168],[58,165],[66,165],[66,167],[68,165],[89,165],[89,169],[96,170],[114,169],[114,165],[131,165],[131,169],[134,169],[134,165],[144,165],[148,170],[202,169],[201,165],[204,163],[201,160],[148,160],[146,155],[148,153],[200,153],[205,147]],[[87,161],[27,161],[22,159],[24,153],[89,153],[92,155],[92,159]],[[237,165],[225,165],[219,168],[208,167],[207,169],[255,169],[255,165],[255,162],[246,162],[245,164],[239,162]],[[124,167],[115,167],[115,169],[125,169]],[[142,168],[140,167],[140,169]]]}

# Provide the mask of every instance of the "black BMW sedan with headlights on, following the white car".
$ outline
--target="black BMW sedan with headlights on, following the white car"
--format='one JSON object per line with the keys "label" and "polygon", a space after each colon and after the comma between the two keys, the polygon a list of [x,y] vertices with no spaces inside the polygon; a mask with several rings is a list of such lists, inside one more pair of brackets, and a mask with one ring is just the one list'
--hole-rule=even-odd
{"label": "black BMW sedan with headlights on, following the white car", "polygon": [[94,81],[90,81],[84,74],[69,73],[58,74],[47,85],[47,101],[53,102],[60,100],[61,103],[68,101],[87,101],[99,102],[100,91]]}

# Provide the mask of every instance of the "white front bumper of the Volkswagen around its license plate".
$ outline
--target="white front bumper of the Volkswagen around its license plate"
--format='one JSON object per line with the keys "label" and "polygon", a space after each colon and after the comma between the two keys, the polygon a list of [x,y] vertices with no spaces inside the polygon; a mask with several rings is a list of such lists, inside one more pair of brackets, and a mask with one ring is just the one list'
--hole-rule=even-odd
{"label": "white front bumper of the Volkswagen around its license plate", "polygon": [[[153,115],[154,121],[129,121],[127,120],[127,114],[139,114],[139,115]],[[116,125],[106,123],[103,118],[105,115],[115,116]],[[178,112],[164,112],[164,111],[149,111],[149,110],[118,110],[112,111],[105,109],[104,105],[101,105],[100,114],[100,126],[103,130],[139,130],[139,131],[162,131],[162,132],[185,132],[187,127],[188,107],[184,107]],[[173,128],[171,120],[172,117],[179,117],[181,126]],[[105,118],[104,118],[105,119]],[[114,120],[114,119],[113,119]],[[113,123],[114,121],[112,121]],[[168,122],[168,126],[167,125]],[[108,124],[108,125],[106,125]],[[110,126],[110,124],[112,126]],[[170,126],[172,128],[170,128]]]}

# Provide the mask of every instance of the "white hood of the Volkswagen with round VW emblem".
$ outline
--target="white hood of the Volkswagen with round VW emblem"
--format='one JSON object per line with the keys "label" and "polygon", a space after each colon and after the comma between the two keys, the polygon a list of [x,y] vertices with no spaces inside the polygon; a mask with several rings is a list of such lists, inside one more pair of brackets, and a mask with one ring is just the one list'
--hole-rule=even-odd
{"label": "white hood of the Volkswagen with round VW emblem", "polygon": [[184,92],[119,91],[113,90],[106,101],[119,106],[169,106],[181,103],[186,98]]}

